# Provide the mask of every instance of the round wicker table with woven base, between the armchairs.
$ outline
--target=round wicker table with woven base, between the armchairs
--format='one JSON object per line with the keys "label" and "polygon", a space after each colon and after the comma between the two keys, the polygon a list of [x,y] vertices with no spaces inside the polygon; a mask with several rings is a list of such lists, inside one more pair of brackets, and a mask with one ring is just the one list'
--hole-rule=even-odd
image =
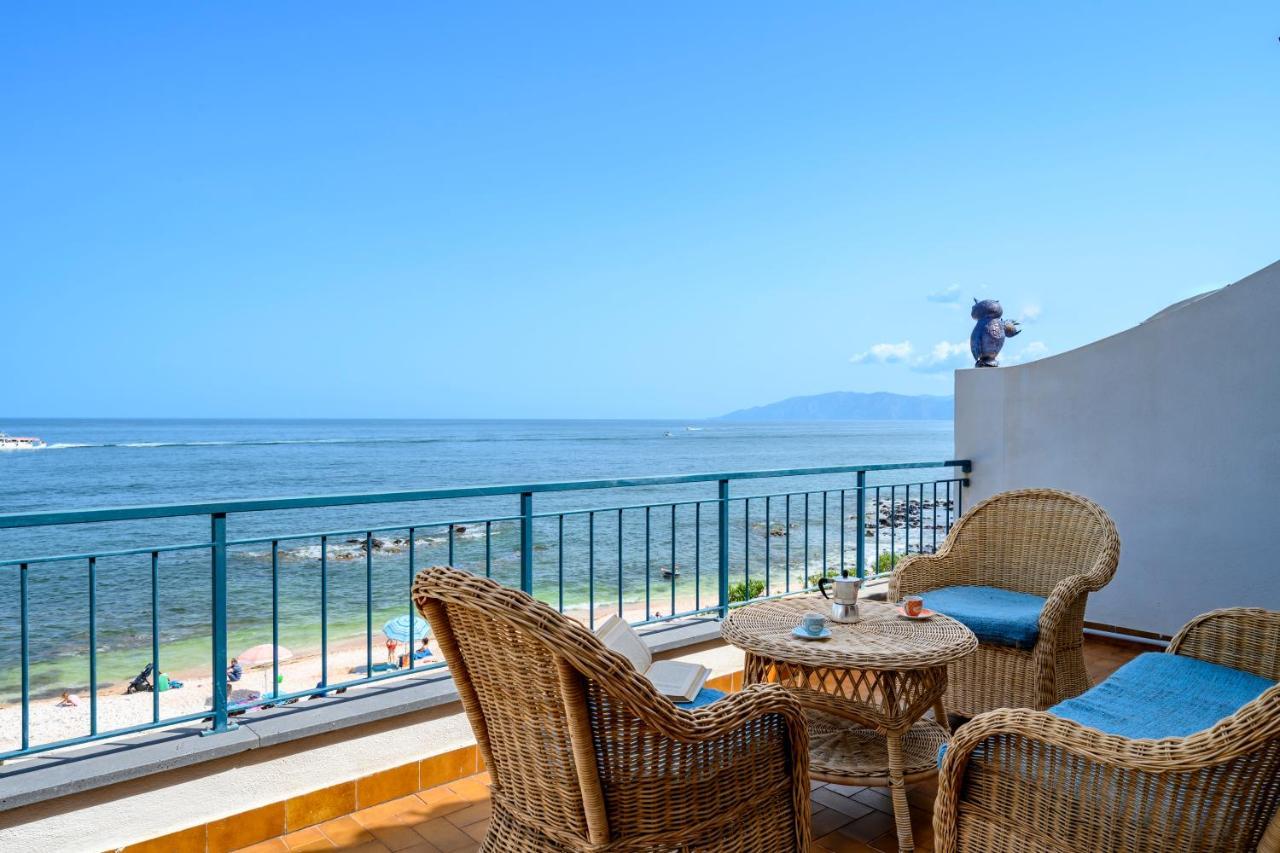
{"label": "round wicker table with woven base, between the armchairs", "polygon": [[[941,613],[911,621],[876,601],[858,603],[858,622],[828,622],[831,639],[792,637],[804,613],[829,613],[827,605],[819,596],[748,605],[724,619],[721,635],[746,652],[744,683],[782,684],[805,706],[810,775],[888,786],[899,847],[915,849],[906,783],[937,772],[950,734],[947,663],[974,652],[978,639]],[[929,708],[933,720],[924,717]]]}

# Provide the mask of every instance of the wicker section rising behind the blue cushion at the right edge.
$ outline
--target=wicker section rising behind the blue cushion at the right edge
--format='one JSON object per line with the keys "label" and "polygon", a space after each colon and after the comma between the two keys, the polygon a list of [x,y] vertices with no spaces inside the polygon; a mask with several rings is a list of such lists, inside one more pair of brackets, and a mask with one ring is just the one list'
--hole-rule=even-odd
{"label": "wicker section rising behind the blue cushion at the right edge", "polygon": [[1228,607],[1201,613],[1183,625],[1167,651],[1280,680],[1280,612]]}

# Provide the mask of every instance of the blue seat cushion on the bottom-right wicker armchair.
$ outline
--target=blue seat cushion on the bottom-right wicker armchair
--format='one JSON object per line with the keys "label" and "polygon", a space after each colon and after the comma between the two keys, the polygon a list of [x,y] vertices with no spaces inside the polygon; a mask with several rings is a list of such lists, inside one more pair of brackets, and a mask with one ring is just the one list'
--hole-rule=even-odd
{"label": "blue seat cushion on the bottom-right wicker armchair", "polygon": [[1048,712],[1125,738],[1185,738],[1231,716],[1274,684],[1194,657],[1146,652]]}

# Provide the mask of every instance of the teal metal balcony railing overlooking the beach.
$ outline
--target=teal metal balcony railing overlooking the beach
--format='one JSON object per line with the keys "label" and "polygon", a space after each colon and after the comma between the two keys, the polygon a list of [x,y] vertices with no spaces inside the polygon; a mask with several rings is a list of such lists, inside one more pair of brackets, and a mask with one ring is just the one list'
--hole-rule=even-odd
{"label": "teal metal balcony railing overlooking the beach", "polygon": [[[906,482],[879,482],[890,474],[928,469],[950,469],[947,475]],[[408,590],[413,575],[424,565],[422,552],[434,551],[434,561],[497,576],[502,557],[494,553],[495,540],[503,548],[515,547],[516,565],[511,585],[571,612],[588,625],[595,625],[602,606],[628,617],[632,622],[664,622],[698,616],[723,616],[731,607],[750,601],[810,590],[813,579],[844,569],[859,576],[892,569],[900,556],[936,548],[952,523],[963,512],[963,487],[968,484],[970,462],[946,460],[884,465],[846,465],[785,470],[730,471],[716,474],[684,474],[669,476],[630,476],[564,483],[527,483],[513,485],[479,485],[370,494],[330,494],[284,498],[253,498],[182,505],[131,506],[96,510],[47,511],[0,515],[0,532],[60,528],[64,525],[99,525],[136,523],[152,519],[200,519],[209,523],[209,537],[200,542],[143,546],[115,549],[87,549],[77,553],[26,556],[0,560],[0,573],[17,573],[17,611],[19,613],[18,666],[22,703],[20,731],[12,738],[12,748],[0,742],[0,760],[14,758],[50,749],[83,744],[104,738],[145,731],[163,726],[207,721],[205,734],[224,733],[236,727],[232,719],[247,707],[279,704],[300,698],[324,695],[349,686],[401,678],[412,672],[443,666],[439,661],[419,663],[412,639],[407,666],[378,671],[374,663],[375,635],[375,564],[379,581],[388,573],[402,578],[397,596],[403,612],[413,624],[413,606]],[[869,479],[873,478],[873,479]],[[892,479],[892,478],[890,478]],[[801,488],[772,493],[731,493],[731,484],[755,480],[788,480]],[[813,480],[822,480],[814,483]],[[876,480],[876,482],[873,482]],[[716,494],[627,502],[589,508],[553,507],[535,511],[535,496],[544,501],[559,500],[573,493],[600,489],[655,488],[698,489],[716,484]],[[421,520],[337,530],[288,533],[230,538],[229,517],[289,510],[321,510],[362,507],[370,505],[407,505],[422,502],[458,502],[516,497],[517,512],[488,515],[477,519]],[[850,511],[850,507],[852,510]],[[740,515],[739,515],[740,514]],[[832,525],[831,516],[836,515]],[[253,515],[252,517],[257,517]],[[739,521],[737,519],[741,519]],[[627,526],[627,520],[631,526]],[[483,525],[483,528],[481,528]],[[710,526],[704,532],[704,526]],[[460,537],[472,528],[483,529],[483,551],[460,547]],[[507,532],[515,528],[515,537]],[[576,528],[576,530],[575,530]],[[585,528],[585,529],[584,529]],[[422,538],[425,532],[436,532]],[[375,534],[404,533],[396,542],[403,549],[394,555],[378,555],[380,539]],[[0,534],[3,535],[3,534]],[[353,538],[352,538],[353,537]],[[474,537],[472,537],[474,538]],[[655,539],[657,544],[655,546]],[[799,539],[799,542],[792,542]],[[3,539],[0,539],[3,540]],[[850,540],[852,540],[850,543]],[[308,689],[282,692],[282,544],[315,542],[314,580],[319,587],[319,653],[320,681]],[[602,542],[607,558],[602,556]],[[335,551],[337,543],[344,548]],[[754,544],[753,544],[754,543]],[[356,547],[352,548],[351,546]],[[612,548],[608,546],[612,544]],[[850,544],[852,547],[850,548]],[[270,565],[270,637],[273,646],[271,689],[248,703],[232,702],[228,690],[228,619],[232,608],[228,585],[229,556],[253,547],[269,547],[261,553]],[[838,555],[833,556],[832,549]],[[188,560],[207,552],[210,593],[211,654],[209,665],[212,681],[211,707],[175,716],[161,713],[160,693],[151,694],[151,720],[136,725],[100,730],[99,726],[99,565],[104,560],[141,558],[146,566],[150,610],[148,657],[159,674],[164,640],[160,631],[161,588],[165,562]],[[539,560],[538,555],[541,555]],[[364,651],[365,667],[358,678],[332,679],[330,672],[330,583],[334,564],[352,564],[362,556],[364,583]],[[383,565],[381,557],[393,557]],[[611,565],[612,564],[612,565]],[[31,736],[32,707],[32,643],[29,579],[33,573],[51,566],[82,565],[87,585],[88,644],[88,733],[76,738],[33,742]],[[265,565],[265,564],[264,564]],[[307,565],[311,565],[310,562]],[[655,583],[654,569],[658,570]],[[692,570],[692,576],[686,573]],[[796,570],[799,569],[799,576]],[[403,571],[402,575],[398,573]],[[308,575],[310,578],[310,575]],[[68,580],[65,576],[63,580]],[[0,574],[0,580],[4,580]],[[502,580],[502,578],[499,578]],[[70,578],[74,583],[74,576]],[[714,581],[713,584],[704,581]],[[349,583],[349,579],[348,579]],[[585,598],[566,598],[566,587],[585,593]],[[611,589],[612,585],[612,589]],[[710,585],[710,589],[704,587]],[[663,589],[662,587],[666,587]],[[3,596],[12,594],[6,587]],[[684,597],[681,596],[684,593]],[[605,599],[604,597],[608,596]],[[630,596],[630,597],[628,597]],[[358,598],[358,593],[357,593]],[[603,603],[602,603],[603,602]],[[643,602],[643,608],[641,608]],[[287,603],[287,602],[285,602]],[[630,605],[630,607],[628,607]],[[655,606],[662,610],[655,610]],[[584,612],[585,611],[585,612]],[[420,619],[420,617],[417,617]],[[4,662],[0,669],[12,666]],[[349,672],[348,672],[349,675]],[[5,733],[0,733],[4,736]]]}

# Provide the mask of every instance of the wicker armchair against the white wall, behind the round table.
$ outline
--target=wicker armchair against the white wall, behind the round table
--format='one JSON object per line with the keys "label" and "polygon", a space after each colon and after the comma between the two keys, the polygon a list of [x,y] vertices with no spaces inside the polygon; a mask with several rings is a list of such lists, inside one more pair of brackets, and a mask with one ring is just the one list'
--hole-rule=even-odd
{"label": "wicker armchair against the white wall, behind the round table", "polygon": [[946,693],[947,711],[966,717],[993,708],[1043,711],[1091,686],[1084,605],[1111,580],[1119,558],[1115,524],[1097,503],[1055,489],[1005,492],[956,521],[936,553],[902,560],[888,596],[998,587],[1044,597],[1032,648],[980,643],[947,667]]}

